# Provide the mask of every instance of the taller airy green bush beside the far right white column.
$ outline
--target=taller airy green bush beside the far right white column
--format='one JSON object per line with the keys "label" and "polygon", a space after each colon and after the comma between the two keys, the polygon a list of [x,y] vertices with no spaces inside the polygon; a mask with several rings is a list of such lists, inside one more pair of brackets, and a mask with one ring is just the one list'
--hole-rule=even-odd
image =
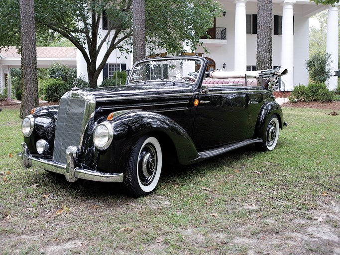
{"label": "taller airy green bush beside the far right white column", "polygon": [[332,76],[331,55],[329,53],[315,53],[306,61],[310,79],[315,83],[325,83]]}

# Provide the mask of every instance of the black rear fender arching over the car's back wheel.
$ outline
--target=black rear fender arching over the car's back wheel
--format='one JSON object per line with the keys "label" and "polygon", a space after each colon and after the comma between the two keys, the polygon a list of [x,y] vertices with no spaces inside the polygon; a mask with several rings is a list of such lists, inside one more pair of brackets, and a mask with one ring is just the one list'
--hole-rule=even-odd
{"label": "black rear fender arching over the car's back wheel", "polygon": [[276,114],[279,118],[280,128],[284,126],[283,114],[280,105],[274,101],[266,102],[262,105],[260,113],[257,117],[255,136],[259,137],[262,133],[263,127],[266,125],[266,120],[269,116]]}

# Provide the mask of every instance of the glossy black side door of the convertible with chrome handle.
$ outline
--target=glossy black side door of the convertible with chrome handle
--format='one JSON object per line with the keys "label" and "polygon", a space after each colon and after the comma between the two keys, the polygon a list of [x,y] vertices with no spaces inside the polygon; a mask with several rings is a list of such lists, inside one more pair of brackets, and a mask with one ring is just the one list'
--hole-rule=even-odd
{"label": "glossy black side door of the convertible with chrome handle", "polygon": [[199,151],[245,139],[248,94],[242,87],[211,87],[198,100],[193,140]]}

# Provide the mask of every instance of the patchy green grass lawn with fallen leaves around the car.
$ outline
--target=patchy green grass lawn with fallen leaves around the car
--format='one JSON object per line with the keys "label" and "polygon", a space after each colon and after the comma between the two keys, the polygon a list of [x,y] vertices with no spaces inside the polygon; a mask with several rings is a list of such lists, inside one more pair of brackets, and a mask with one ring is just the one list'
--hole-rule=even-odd
{"label": "patchy green grass lawn with fallen leaves around the car", "polygon": [[155,193],[16,160],[19,110],[0,112],[0,254],[340,254],[340,116],[283,108],[277,148],[165,173]]}

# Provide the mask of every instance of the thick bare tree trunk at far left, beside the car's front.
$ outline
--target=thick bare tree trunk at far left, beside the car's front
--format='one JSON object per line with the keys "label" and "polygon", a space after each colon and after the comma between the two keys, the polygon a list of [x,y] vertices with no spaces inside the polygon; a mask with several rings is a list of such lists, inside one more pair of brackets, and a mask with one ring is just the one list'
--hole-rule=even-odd
{"label": "thick bare tree trunk at far left, beside the car's front", "polygon": [[37,54],[35,43],[34,0],[20,0],[21,87],[20,118],[39,106]]}

